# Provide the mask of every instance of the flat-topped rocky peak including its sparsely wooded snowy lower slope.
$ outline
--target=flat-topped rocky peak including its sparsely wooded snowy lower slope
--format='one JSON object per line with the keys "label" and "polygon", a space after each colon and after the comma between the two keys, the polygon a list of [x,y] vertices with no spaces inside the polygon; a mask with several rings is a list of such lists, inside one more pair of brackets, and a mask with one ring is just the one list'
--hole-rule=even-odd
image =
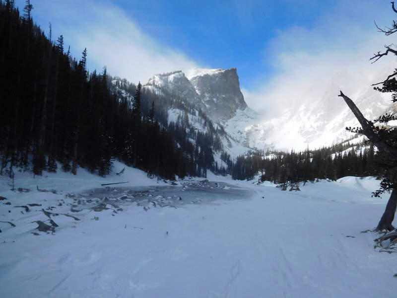
{"label": "flat-topped rocky peak including its sparsely wooded snowy lower slope", "polygon": [[235,68],[156,74],[143,88],[167,98],[164,105],[161,101],[156,103],[156,109],[167,113],[164,121],[181,124],[189,134],[195,131],[212,136],[216,158],[220,157],[220,150],[232,157],[248,151],[246,128],[259,115],[244,101]]}

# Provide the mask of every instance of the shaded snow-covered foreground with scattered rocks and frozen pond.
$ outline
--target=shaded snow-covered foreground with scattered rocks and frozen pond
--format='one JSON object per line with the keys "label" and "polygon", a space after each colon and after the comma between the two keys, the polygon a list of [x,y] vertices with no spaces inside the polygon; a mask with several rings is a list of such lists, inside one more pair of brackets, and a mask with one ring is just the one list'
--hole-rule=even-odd
{"label": "shaded snow-covered foreground with scattered rocks and frozen pond", "polygon": [[[114,172],[123,167],[116,162]],[[397,293],[397,254],[379,252],[376,234],[362,233],[387,202],[371,197],[372,178],[298,192],[213,175],[170,185],[128,167],[106,178],[16,172],[15,187],[29,192],[10,191],[8,180],[0,177],[2,298]],[[51,229],[39,231],[39,221]]]}

